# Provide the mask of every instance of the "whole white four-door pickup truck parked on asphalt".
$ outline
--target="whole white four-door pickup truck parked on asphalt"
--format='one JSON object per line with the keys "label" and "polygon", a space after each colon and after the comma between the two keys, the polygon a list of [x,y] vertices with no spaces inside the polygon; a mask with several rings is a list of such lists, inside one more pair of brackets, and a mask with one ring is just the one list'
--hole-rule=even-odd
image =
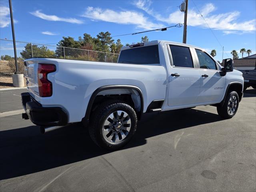
{"label": "whole white four-door pickup truck parked on asphalt", "polygon": [[118,63],[27,59],[22,117],[43,133],[82,122],[98,146],[116,150],[148,112],[212,105],[232,118],[244,78],[231,59],[223,62],[224,68],[202,48],[162,40],[123,47]]}

